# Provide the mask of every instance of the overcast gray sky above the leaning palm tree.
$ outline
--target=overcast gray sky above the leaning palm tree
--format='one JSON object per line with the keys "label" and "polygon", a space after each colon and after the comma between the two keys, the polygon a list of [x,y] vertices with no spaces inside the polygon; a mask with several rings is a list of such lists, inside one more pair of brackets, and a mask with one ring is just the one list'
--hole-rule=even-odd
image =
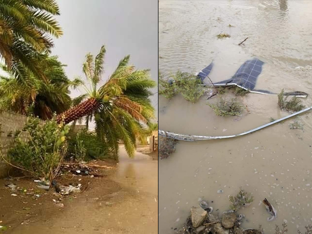
{"label": "overcast gray sky above the leaning palm tree", "polygon": [[[96,55],[105,45],[103,79],[115,70],[118,62],[130,55],[137,69],[151,69],[158,80],[158,2],[157,0],[58,0],[58,21],[63,36],[55,39],[53,55],[67,64],[69,78],[83,77],[85,55]],[[84,92],[73,91],[73,96]],[[157,92],[157,88],[153,93]],[[158,95],[151,97],[156,109]]]}

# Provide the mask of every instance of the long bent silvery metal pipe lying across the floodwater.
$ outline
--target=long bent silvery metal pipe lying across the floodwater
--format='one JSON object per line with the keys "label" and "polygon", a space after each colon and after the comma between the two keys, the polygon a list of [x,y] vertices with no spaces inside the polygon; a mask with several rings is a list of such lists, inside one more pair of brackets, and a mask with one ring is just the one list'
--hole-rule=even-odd
{"label": "long bent silvery metal pipe lying across the floodwater", "polygon": [[186,141],[211,140],[211,139],[223,139],[223,138],[239,137],[239,136],[244,136],[244,135],[247,135],[247,134],[250,134],[250,133],[254,133],[255,131],[258,131],[260,129],[266,128],[266,127],[271,126],[271,125],[273,125],[275,123],[278,123],[278,122],[280,122],[282,120],[285,120],[285,119],[288,119],[290,117],[299,115],[299,114],[301,114],[303,112],[306,112],[306,111],[309,111],[311,109],[312,109],[312,106],[308,107],[308,108],[306,108],[304,110],[298,111],[296,113],[293,113],[293,114],[291,114],[289,116],[277,119],[277,120],[275,120],[275,121],[273,121],[271,123],[267,123],[267,124],[262,125],[260,127],[257,127],[257,128],[252,129],[252,130],[249,130],[247,132],[236,134],[236,135],[221,136],[221,137],[195,136],[195,135],[185,135],[185,134],[172,133],[172,132],[163,131],[163,130],[158,130],[158,135],[163,136],[163,137],[173,138],[173,139],[176,139],[176,140],[186,140]]}

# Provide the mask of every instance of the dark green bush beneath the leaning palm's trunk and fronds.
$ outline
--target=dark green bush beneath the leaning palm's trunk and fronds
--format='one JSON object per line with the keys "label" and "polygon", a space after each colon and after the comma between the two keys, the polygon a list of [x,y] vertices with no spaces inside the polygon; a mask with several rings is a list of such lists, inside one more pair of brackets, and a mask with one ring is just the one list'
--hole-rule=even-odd
{"label": "dark green bush beneath the leaning palm's trunk and fronds", "polygon": [[114,158],[105,142],[101,141],[95,133],[87,132],[86,129],[70,135],[67,156],[77,161]]}

